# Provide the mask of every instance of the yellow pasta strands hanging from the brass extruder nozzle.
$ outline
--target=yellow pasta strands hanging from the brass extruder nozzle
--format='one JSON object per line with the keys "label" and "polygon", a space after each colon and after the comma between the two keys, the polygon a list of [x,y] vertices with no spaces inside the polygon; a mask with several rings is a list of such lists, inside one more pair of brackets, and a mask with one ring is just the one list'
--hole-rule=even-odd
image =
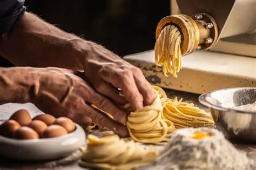
{"label": "yellow pasta strands hanging from the brass extruder nozzle", "polygon": [[163,73],[177,77],[177,72],[181,69],[181,33],[174,25],[167,25],[161,30],[160,35],[154,45],[154,56],[157,66],[163,67]]}

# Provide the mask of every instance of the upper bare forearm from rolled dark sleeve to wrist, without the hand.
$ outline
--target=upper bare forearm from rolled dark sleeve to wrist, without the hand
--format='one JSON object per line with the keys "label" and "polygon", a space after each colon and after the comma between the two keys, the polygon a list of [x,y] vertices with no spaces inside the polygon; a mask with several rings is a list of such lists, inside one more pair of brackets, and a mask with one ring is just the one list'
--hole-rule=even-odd
{"label": "upper bare forearm from rolled dark sleeve to wrist, without the hand", "polygon": [[83,70],[86,43],[90,49],[90,42],[25,12],[15,28],[0,39],[0,55],[18,66]]}

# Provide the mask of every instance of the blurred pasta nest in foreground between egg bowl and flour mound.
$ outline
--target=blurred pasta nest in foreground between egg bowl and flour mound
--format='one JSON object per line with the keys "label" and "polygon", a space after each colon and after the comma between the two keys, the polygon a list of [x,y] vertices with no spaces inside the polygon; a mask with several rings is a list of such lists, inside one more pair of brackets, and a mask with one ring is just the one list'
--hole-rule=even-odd
{"label": "blurred pasta nest in foreground between egg bowl and flour mound", "polygon": [[149,165],[157,156],[153,147],[133,140],[125,141],[117,135],[100,139],[89,135],[79,165],[88,168],[131,169]]}

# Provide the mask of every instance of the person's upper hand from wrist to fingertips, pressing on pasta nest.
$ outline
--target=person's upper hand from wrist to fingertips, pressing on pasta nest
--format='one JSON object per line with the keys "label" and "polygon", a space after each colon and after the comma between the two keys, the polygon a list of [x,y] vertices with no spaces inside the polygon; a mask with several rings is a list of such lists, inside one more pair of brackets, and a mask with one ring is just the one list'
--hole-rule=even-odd
{"label": "person's upper hand from wrist to fingertips, pressing on pasta nest", "polygon": [[[128,101],[133,110],[153,102],[153,89],[138,67],[103,46],[92,42],[86,42],[86,45],[91,48],[87,50],[87,56],[84,56],[85,77],[96,91],[118,103],[125,104]],[[124,97],[120,96],[120,90]]]}

